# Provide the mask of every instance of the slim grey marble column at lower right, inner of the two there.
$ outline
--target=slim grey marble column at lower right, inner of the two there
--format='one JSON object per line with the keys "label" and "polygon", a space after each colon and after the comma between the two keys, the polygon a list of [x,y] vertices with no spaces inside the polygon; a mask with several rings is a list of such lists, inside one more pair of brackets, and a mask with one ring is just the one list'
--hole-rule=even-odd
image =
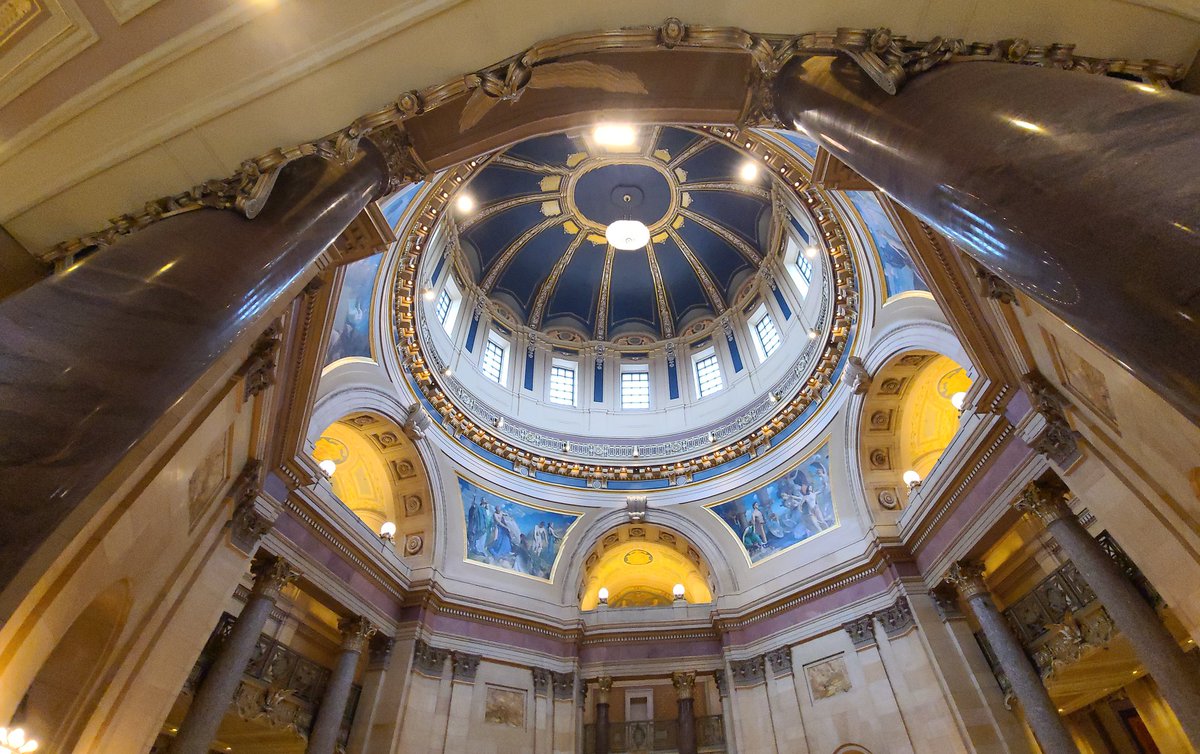
{"label": "slim grey marble column at lower right, inner of the two there", "polygon": [[992,602],[983,580],[983,564],[959,561],[946,576],[962,599],[971,606],[988,644],[991,645],[1001,670],[1008,676],[1013,694],[1025,712],[1038,746],[1045,754],[1079,754],[1067,723],[1058,716],[1058,708],[1050,699],[1033,663],[1025,654],[1013,628]]}

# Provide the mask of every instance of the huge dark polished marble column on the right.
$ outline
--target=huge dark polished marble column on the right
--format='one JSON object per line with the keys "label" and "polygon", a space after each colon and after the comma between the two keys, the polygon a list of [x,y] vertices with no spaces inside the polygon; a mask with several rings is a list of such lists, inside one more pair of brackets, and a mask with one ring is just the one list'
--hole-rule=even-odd
{"label": "huge dark polished marble column on the right", "polygon": [[1180,347],[1200,337],[1200,97],[1000,61],[912,71],[889,95],[824,55],[787,64],[773,97],[784,124],[1200,421],[1200,348]]}

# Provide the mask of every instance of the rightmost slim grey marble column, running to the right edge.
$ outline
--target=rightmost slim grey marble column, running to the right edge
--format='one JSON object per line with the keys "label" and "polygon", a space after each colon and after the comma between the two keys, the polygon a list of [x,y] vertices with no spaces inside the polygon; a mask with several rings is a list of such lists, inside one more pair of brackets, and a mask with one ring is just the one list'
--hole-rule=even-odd
{"label": "rightmost slim grey marble column, running to the right edge", "polygon": [[1200,748],[1200,674],[1196,672],[1196,664],[1180,648],[1178,641],[1116,561],[1072,513],[1067,504],[1068,492],[1067,485],[1057,478],[1033,481],[1014,505],[1040,519],[1070,557],[1112,623],[1133,646],[1138,659],[1150,670],[1193,746]]}

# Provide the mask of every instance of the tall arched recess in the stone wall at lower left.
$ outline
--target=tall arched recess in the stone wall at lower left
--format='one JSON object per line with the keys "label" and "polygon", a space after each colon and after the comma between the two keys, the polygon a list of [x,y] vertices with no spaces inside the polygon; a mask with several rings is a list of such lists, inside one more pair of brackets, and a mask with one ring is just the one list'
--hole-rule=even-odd
{"label": "tall arched recess in the stone wall at lower left", "polygon": [[96,596],[59,638],[25,692],[22,724],[49,752],[71,752],[107,686],[103,671],[133,599],[116,581]]}

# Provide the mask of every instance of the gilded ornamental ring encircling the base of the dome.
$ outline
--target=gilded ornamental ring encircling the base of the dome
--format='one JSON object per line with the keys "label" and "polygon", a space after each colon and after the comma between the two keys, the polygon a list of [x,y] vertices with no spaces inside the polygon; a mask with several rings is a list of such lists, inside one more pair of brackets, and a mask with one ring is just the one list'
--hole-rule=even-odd
{"label": "gilded ornamental ring encircling the base of the dome", "polygon": [[[823,401],[832,389],[832,378],[850,343],[850,334],[858,319],[858,279],[854,263],[847,247],[846,232],[842,229],[838,213],[828,205],[824,192],[811,184],[808,168],[769,139],[736,127],[697,126],[696,131],[725,142],[743,151],[748,157],[760,161],[762,169],[772,173],[782,187],[794,192],[799,202],[808,208],[817,220],[823,235],[824,246],[829,251],[830,277],[834,295],[830,300],[829,330],[823,340],[817,342],[821,349],[811,372],[802,377],[787,395],[773,402],[769,418],[750,426],[731,423],[721,431],[710,433],[706,451],[680,461],[655,463],[646,459],[643,463],[604,463],[587,462],[576,457],[552,455],[551,451],[532,450],[510,442],[490,423],[476,420],[464,412],[451,397],[457,384],[452,377],[442,373],[440,358],[436,351],[426,349],[418,335],[416,307],[420,297],[415,289],[420,257],[426,247],[433,228],[451,207],[455,191],[466,184],[470,176],[485,164],[490,156],[472,160],[449,168],[439,181],[427,193],[425,205],[414,213],[402,238],[406,239],[396,273],[392,305],[394,323],[398,354],[412,376],[413,387],[424,395],[428,405],[440,415],[440,424],[454,436],[461,436],[511,463],[524,473],[556,474],[586,479],[593,486],[600,486],[606,480],[650,480],[671,479],[689,481],[691,475],[743,455],[761,455],[769,451],[770,439],[788,427],[814,403]],[[611,223],[612,225],[612,223]],[[422,318],[424,323],[424,318]],[[443,381],[446,381],[443,384]],[[764,396],[763,400],[767,400]],[[505,424],[505,430],[509,424]]]}

